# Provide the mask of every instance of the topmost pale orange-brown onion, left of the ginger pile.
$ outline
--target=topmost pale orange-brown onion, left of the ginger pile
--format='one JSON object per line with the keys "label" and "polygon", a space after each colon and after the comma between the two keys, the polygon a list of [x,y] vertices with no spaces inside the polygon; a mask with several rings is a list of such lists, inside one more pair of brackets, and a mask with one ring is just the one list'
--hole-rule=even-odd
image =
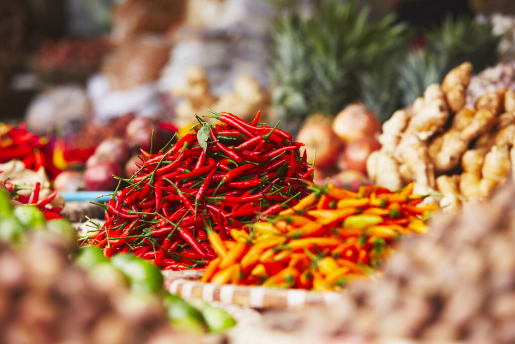
{"label": "topmost pale orange-brown onion, left of the ginger pile", "polygon": [[341,110],[333,121],[335,134],[349,143],[381,131],[381,123],[365,105],[352,103]]}

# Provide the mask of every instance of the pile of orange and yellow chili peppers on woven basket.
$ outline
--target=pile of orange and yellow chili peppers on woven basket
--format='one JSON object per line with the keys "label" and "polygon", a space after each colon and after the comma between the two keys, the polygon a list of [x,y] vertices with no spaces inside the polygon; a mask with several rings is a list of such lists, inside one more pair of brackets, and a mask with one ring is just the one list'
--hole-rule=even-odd
{"label": "pile of orange and yellow chili peppers on woven basket", "polygon": [[417,207],[424,196],[412,194],[413,184],[398,192],[314,189],[278,216],[255,223],[250,233],[231,230],[234,241],[211,231],[217,258],[202,282],[339,290],[349,279],[374,274],[394,240],[425,233],[423,219],[438,209]]}

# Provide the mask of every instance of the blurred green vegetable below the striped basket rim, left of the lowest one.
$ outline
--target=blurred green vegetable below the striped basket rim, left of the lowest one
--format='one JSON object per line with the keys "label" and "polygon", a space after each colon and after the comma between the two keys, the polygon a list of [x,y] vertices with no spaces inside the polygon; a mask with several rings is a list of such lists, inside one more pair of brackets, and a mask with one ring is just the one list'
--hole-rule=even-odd
{"label": "blurred green vegetable below the striped basket rim, left of the lowest one", "polygon": [[191,332],[205,332],[204,317],[197,308],[169,292],[165,292],[163,304],[174,327]]}

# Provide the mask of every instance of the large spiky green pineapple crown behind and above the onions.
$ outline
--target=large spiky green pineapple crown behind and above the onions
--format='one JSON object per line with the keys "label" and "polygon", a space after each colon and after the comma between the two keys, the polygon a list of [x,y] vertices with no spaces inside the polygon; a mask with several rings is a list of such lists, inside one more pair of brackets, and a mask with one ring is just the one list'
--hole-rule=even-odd
{"label": "large spiky green pineapple crown behind and above the onions", "polygon": [[280,19],[272,32],[272,102],[283,128],[295,134],[310,113],[334,115],[358,99],[358,76],[405,43],[404,25],[393,16],[368,21],[354,1],[319,2],[310,17]]}

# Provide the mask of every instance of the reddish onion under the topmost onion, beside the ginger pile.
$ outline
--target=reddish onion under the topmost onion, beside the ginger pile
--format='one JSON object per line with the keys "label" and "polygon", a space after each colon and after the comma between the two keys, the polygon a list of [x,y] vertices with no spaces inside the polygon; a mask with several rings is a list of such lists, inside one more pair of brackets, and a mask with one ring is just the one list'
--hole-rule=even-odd
{"label": "reddish onion under the topmost onion, beside the ginger pile", "polygon": [[353,141],[341,153],[338,167],[341,170],[351,169],[366,174],[368,156],[380,148],[381,143],[370,136]]}

